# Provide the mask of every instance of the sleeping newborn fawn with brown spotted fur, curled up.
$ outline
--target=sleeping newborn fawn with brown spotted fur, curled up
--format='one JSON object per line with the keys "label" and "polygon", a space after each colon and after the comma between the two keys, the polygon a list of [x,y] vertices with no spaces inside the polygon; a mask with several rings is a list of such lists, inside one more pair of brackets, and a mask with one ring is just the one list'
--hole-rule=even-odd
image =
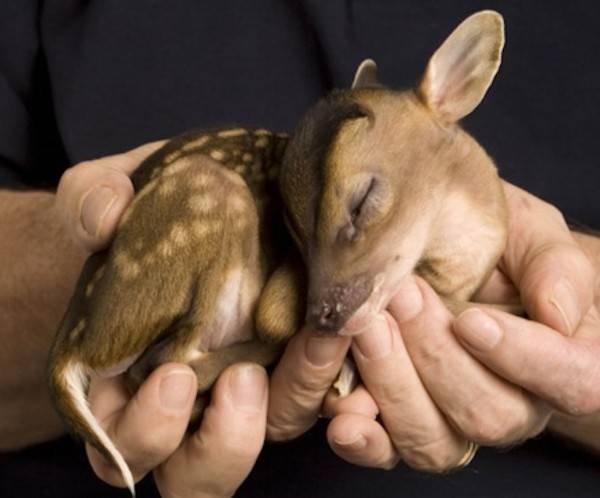
{"label": "sleeping newborn fawn with brown spotted fur, curled up", "polygon": [[506,206],[492,160],[456,121],[483,98],[502,44],[500,16],[475,14],[414,90],[381,87],[363,64],[357,87],[317,103],[289,144],[231,128],[186,134],[148,158],[52,350],[50,384],[67,421],[118,465],[78,412],[73,372],[87,376],[85,390],[92,373],[125,371],[134,391],[159,364],[180,361],[203,392],[236,361],[274,361],[305,308],[310,325],[338,332],[379,312],[413,271],[464,308],[504,249]]}

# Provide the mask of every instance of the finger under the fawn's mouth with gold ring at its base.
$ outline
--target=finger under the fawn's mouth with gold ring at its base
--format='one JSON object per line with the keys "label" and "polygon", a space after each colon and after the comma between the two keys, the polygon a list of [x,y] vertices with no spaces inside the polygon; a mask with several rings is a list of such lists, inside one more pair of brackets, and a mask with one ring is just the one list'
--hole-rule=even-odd
{"label": "finger under the fawn's mouth with gold ring at its base", "polygon": [[[410,281],[400,294],[412,312],[420,301]],[[417,309],[418,308],[418,309]],[[421,470],[445,471],[460,461],[466,441],[439,411],[408,355],[396,322],[381,316],[354,337],[352,354],[400,458]]]}

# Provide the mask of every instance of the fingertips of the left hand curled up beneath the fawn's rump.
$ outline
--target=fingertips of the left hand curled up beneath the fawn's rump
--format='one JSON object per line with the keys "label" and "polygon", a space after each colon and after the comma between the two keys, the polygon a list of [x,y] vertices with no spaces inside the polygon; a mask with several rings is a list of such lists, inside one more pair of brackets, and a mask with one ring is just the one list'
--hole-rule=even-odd
{"label": "fingertips of the left hand curled up beneath the fawn's rump", "polygon": [[[258,365],[228,368],[213,387],[200,429],[187,436],[196,375],[186,365],[161,365],[132,398],[121,378],[96,380],[89,399],[136,482],[154,471],[163,498],[221,498],[233,495],[260,453],[267,387]],[[123,486],[116,468],[93,447],[87,451],[102,480]]]}

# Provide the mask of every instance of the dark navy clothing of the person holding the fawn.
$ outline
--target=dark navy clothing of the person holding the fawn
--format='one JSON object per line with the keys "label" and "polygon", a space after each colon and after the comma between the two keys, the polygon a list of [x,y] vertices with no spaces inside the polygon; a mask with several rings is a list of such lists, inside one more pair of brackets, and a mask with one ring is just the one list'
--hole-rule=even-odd
{"label": "dark navy clothing of the person holding the fawn", "polygon": [[[0,0],[1,1],[1,0]],[[374,58],[401,88],[468,14],[505,17],[504,62],[465,126],[503,177],[600,228],[600,8],[571,0],[1,1],[0,185],[56,185],[70,164],[186,129],[291,130],[309,104]],[[252,10],[254,9],[254,10]],[[1,214],[0,214],[1,215]],[[482,450],[429,476],[358,469],[319,426],[268,445],[239,496],[597,496],[597,461],[552,439]],[[139,496],[156,492],[148,479]],[[0,497],[125,496],[63,439],[5,457]]]}

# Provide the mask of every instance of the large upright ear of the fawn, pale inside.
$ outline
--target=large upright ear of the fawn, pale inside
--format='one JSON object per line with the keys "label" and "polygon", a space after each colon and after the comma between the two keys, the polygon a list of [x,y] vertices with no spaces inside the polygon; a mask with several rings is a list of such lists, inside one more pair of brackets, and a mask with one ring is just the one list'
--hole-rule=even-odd
{"label": "large upright ear of the fawn, pale inside", "polygon": [[492,10],[465,19],[433,54],[418,94],[445,123],[469,114],[483,99],[500,67],[504,21]]}

